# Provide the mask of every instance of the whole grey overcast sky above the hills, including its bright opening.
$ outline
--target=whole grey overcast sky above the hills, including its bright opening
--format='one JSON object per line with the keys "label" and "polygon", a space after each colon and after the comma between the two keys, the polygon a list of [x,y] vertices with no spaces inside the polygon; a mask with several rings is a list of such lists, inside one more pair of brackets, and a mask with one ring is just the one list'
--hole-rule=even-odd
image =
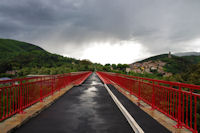
{"label": "whole grey overcast sky above the hills, including its bright opening", "polygon": [[102,64],[200,52],[200,0],[0,0],[0,38]]}

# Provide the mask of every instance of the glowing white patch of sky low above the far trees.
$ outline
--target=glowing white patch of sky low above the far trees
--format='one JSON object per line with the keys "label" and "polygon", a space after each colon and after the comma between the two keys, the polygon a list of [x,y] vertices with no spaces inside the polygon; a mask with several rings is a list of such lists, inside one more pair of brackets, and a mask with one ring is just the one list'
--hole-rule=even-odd
{"label": "glowing white patch of sky low above the far trees", "polygon": [[148,55],[150,54],[145,51],[145,48],[134,41],[120,41],[114,44],[96,42],[83,51],[81,59],[102,64],[130,64]]}

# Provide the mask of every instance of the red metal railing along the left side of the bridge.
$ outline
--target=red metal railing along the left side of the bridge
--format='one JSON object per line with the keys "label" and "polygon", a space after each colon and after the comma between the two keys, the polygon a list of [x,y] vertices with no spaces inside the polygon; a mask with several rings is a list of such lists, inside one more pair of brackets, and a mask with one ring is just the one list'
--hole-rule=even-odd
{"label": "red metal railing along the left side of the bridge", "polygon": [[0,81],[0,121],[23,110],[69,84],[81,84],[91,72],[67,73]]}

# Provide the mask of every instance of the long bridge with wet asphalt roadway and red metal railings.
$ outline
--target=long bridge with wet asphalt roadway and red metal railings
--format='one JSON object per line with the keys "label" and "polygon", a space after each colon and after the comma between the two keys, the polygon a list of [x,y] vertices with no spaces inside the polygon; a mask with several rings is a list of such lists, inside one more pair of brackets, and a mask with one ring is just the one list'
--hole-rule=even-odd
{"label": "long bridge with wet asphalt roadway and red metal railings", "polygon": [[108,72],[0,81],[0,132],[197,133],[199,89]]}

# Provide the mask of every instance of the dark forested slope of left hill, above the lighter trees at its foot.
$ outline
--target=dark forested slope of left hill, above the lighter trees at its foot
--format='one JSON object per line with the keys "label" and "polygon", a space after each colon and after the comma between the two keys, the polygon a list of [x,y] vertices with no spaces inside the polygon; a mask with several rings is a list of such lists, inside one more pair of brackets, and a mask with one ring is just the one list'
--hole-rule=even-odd
{"label": "dark forested slope of left hill, above the lighter trees at its foot", "polygon": [[51,54],[33,44],[9,39],[0,39],[0,52],[1,73],[23,67],[56,67],[62,63],[77,62],[72,58]]}

